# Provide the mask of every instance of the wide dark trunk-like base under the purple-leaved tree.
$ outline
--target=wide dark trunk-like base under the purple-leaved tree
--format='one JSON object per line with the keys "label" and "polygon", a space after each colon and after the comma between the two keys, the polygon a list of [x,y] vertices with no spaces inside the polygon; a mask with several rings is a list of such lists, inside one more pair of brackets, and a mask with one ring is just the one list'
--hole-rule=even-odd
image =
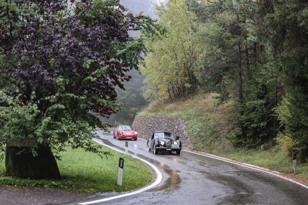
{"label": "wide dark trunk-like base under the purple-leaved tree", "polygon": [[[60,179],[60,172],[49,146],[35,148],[16,147],[7,143],[5,152],[6,173],[10,176],[30,179]],[[20,154],[18,154],[20,153]]]}

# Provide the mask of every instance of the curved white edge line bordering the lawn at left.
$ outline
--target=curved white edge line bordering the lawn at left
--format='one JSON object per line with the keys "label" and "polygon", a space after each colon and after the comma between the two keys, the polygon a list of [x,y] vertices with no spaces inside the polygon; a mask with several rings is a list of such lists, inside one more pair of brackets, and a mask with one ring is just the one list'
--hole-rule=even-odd
{"label": "curved white edge line bordering the lawn at left", "polygon": [[[125,152],[121,151],[121,150],[118,150],[118,149],[115,149],[114,147],[110,147],[106,144],[103,144],[95,139],[93,139],[95,142],[103,145],[103,146],[106,146],[106,147],[109,147],[115,151],[118,151],[118,152],[122,152],[125,154]],[[131,155],[132,156],[132,155]],[[143,191],[146,191],[148,189],[151,189],[153,187],[155,187],[157,184],[159,184],[161,182],[161,179],[162,179],[162,175],[160,173],[160,171],[151,163],[149,163],[148,161],[144,160],[144,159],[141,159],[139,157],[136,157],[136,156],[132,156],[132,157],[135,157],[139,160],[141,160],[142,162],[144,162],[145,164],[149,165],[157,174],[157,178],[156,178],[156,181],[152,184],[150,184],[149,186],[147,187],[144,187],[142,189],[139,189],[137,191],[133,191],[133,192],[130,192],[130,193],[127,193],[127,194],[122,194],[122,195],[117,195],[117,196],[112,196],[112,197],[108,197],[108,198],[104,198],[104,199],[98,199],[98,200],[94,200],[94,201],[88,201],[88,202],[83,202],[83,203],[79,203],[79,204],[82,204],[82,205],[87,205],[87,204],[92,204],[92,203],[99,203],[99,202],[104,202],[104,201],[109,201],[109,200],[112,200],[112,199],[118,199],[118,198],[122,198],[122,197],[125,197],[125,196],[130,196],[130,195],[134,195],[134,194],[138,194],[140,192],[143,192]]]}

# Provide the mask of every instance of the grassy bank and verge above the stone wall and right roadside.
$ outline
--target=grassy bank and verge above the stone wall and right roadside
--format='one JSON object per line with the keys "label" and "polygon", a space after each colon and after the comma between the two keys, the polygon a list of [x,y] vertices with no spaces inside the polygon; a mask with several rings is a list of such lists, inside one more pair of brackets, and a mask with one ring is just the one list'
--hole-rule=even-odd
{"label": "grassy bank and verge above the stone wall and right roadside", "polygon": [[[271,149],[233,147],[228,136],[236,128],[234,102],[217,106],[214,94],[197,94],[173,102],[153,102],[139,115],[179,116],[185,121],[194,149],[240,162],[292,173],[291,157],[278,144]],[[297,166],[297,176],[308,180],[308,163]]]}

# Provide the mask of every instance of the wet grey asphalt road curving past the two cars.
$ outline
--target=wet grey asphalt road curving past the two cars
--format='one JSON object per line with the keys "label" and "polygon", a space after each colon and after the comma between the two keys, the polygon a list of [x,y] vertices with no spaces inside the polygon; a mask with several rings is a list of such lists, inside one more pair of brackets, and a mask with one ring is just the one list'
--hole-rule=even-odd
{"label": "wet grey asphalt road curving past the two cars", "polygon": [[[97,131],[104,144],[124,151],[125,140]],[[154,164],[162,174],[156,187],[97,204],[308,204],[308,189],[236,164],[181,151],[180,155],[147,151],[147,141],[128,141],[128,151]],[[104,193],[92,201],[119,193]],[[79,202],[79,203],[80,203]]]}

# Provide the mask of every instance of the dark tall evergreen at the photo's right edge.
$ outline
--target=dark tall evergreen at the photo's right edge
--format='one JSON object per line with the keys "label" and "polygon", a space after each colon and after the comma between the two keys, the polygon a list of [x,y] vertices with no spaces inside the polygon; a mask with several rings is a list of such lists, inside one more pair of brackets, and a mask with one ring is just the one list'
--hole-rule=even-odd
{"label": "dark tall evergreen at the photo's right edge", "polygon": [[247,25],[249,38],[269,48],[276,72],[284,79],[286,95],[278,119],[303,159],[308,156],[308,3],[238,0],[237,5],[243,16],[257,17]]}

